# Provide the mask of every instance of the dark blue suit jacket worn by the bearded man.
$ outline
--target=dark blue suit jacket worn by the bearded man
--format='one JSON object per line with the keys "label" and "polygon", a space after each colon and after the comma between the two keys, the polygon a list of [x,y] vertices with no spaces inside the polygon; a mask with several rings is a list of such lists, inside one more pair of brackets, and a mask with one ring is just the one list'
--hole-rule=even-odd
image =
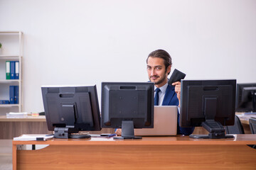
{"label": "dark blue suit jacket worn by the bearded man", "polygon": [[[178,106],[178,98],[174,89],[175,86],[171,86],[170,84],[168,84],[162,106]],[[179,126],[179,113],[177,122],[177,135],[191,135],[193,133],[193,130],[195,128],[181,128]]]}

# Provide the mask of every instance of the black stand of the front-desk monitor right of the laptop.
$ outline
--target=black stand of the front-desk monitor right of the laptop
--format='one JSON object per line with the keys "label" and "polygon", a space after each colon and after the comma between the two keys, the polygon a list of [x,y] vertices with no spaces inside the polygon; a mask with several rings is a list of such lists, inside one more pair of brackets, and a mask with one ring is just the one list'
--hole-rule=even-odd
{"label": "black stand of the front-desk monitor right of the laptop", "polygon": [[202,123],[203,128],[205,128],[209,134],[208,135],[189,135],[189,137],[196,139],[221,139],[221,138],[233,138],[234,135],[225,135],[225,129],[221,123],[215,120],[206,120]]}

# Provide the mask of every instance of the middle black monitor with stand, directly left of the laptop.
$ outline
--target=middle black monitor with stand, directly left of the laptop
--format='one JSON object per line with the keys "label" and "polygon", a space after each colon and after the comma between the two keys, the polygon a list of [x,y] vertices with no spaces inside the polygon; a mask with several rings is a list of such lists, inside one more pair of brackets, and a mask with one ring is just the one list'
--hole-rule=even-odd
{"label": "middle black monitor with stand, directly left of the laptop", "polygon": [[134,128],[154,128],[154,84],[102,82],[102,128],[122,128],[122,137],[134,137]]}

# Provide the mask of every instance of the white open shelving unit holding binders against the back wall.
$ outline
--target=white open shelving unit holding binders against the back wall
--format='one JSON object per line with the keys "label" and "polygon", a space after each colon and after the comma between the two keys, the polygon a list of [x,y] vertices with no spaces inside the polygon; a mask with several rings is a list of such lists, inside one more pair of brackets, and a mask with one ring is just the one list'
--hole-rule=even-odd
{"label": "white open shelving unit holding binders against the back wall", "polygon": [[[22,55],[23,33],[20,31],[0,31],[0,100],[10,101],[10,86],[18,86],[18,103],[0,104],[0,115],[22,111]],[[18,62],[18,79],[6,79],[6,61]]]}

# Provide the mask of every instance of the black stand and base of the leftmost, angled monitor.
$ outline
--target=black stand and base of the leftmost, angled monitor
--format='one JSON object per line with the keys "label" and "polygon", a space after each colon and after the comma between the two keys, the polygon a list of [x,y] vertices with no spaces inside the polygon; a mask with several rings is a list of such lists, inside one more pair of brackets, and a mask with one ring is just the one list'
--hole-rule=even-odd
{"label": "black stand and base of the leftmost, angled monitor", "polygon": [[73,126],[66,126],[65,128],[54,128],[54,137],[60,139],[82,139],[90,138],[90,135],[72,135],[71,133],[77,133],[78,130],[75,130]]}

